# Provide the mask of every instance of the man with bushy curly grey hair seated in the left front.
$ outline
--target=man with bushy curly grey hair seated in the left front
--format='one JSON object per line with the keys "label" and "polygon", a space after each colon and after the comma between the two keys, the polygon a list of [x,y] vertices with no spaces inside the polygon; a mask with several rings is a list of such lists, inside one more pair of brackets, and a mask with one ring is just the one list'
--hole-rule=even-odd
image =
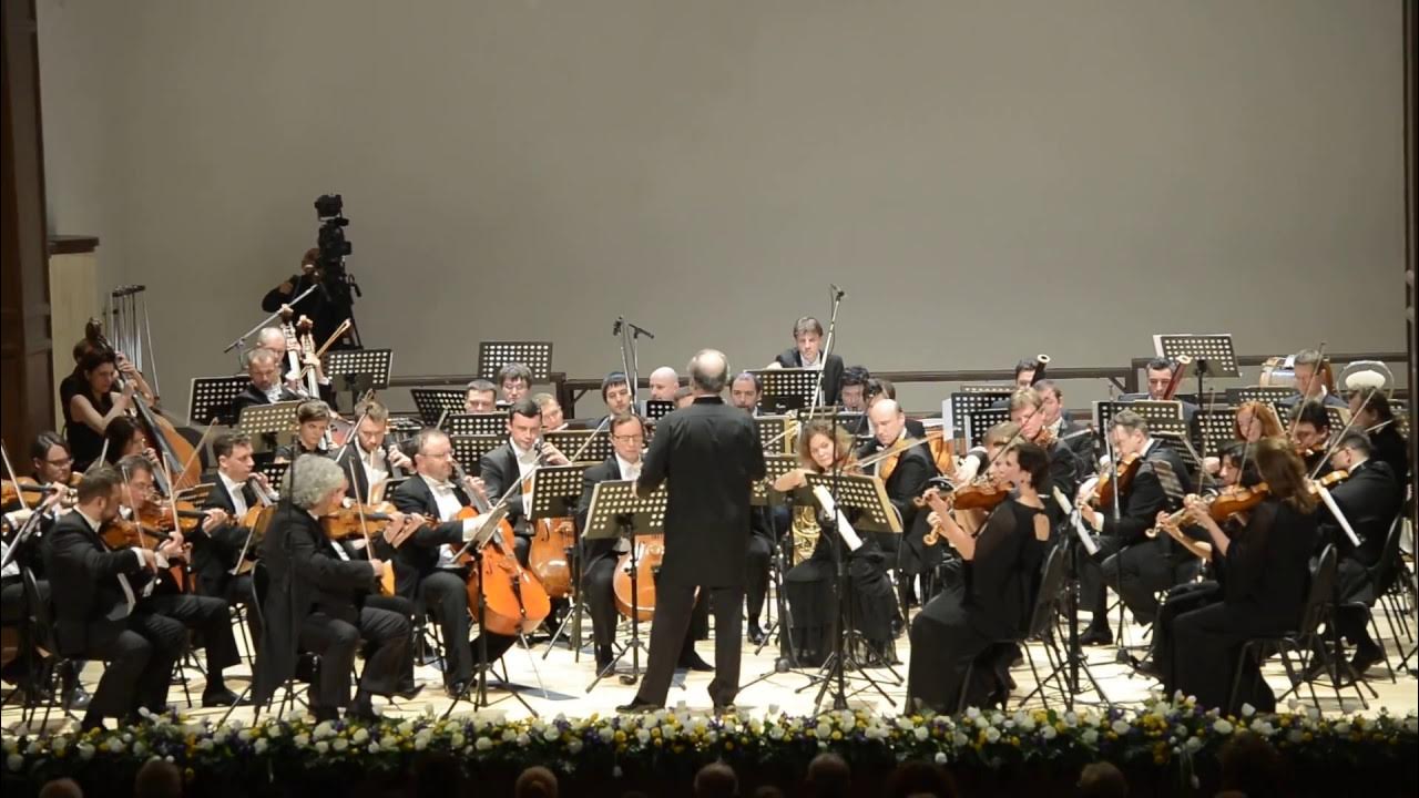
{"label": "man with bushy curly grey hair seated in the left front", "polygon": [[[261,541],[270,585],[261,599],[265,628],[253,669],[253,700],[265,706],[295,673],[299,652],[312,652],[321,666],[311,713],[321,721],[335,720],[341,709],[348,718],[376,720],[372,696],[399,690],[410,642],[407,616],[365,601],[377,592],[389,565],[375,558],[342,558],[321,528],[319,518],[339,510],[345,487],[333,460],[299,457],[285,476],[282,494],[288,500]],[[392,523],[386,534],[402,523]],[[362,647],[365,667],[350,701],[350,672]]]}

